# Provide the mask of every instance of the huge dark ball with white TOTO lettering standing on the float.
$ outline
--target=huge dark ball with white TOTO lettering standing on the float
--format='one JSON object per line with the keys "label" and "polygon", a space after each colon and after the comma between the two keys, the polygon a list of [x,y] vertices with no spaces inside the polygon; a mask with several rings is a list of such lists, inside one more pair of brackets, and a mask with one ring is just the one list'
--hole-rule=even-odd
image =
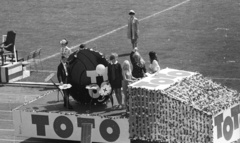
{"label": "huge dark ball with white TOTO lettering standing on the float", "polygon": [[104,103],[112,88],[108,82],[108,61],[102,53],[81,49],[70,55],[70,95],[80,103]]}

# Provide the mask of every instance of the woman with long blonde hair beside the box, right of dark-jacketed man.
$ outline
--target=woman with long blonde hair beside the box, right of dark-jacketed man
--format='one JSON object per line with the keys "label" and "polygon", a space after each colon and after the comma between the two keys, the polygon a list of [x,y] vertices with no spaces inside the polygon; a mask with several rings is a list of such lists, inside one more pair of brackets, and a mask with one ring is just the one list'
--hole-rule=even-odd
{"label": "woman with long blonde hair beside the box, right of dark-jacketed man", "polygon": [[132,76],[132,70],[131,70],[131,65],[128,60],[125,60],[122,64],[122,69],[123,69],[123,93],[124,93],[124,105],[127,103],[128,95],[127,95],[127,89],[128,85],[136,80],[135,77]]}

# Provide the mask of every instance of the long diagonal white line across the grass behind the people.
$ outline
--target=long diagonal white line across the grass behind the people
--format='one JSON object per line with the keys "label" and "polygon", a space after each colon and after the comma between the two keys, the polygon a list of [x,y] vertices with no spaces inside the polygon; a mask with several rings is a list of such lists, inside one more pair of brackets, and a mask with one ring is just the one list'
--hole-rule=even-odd
{"label": "long diagonal white line across the grass behind the people", "polygon": [[[139,19],[139,21],[142,21],[142,20],[145,20],[145,19],[149,19],[149,18],[151,18],[151,17],[154,17],[154,16],[159,15],[159,14],[161,14],[161,13],[164,13],[164,12],[166,12],[166,11],[169,11],[169,10],[174,9],[174,8],[176,8],[176,7],[178,7],[178,6],[181,6],[181,5],[183,5],[183,4],[185,4],[185,3],[189,2],[189,1],[190,1],[190,0],[185,0],[185,1],[181,2],[181,3],[179,3],[179,4],[176,4],[176,5],[174,5],[174,6],[169,7],[169,8],[167,8],[167,9],[164,9],[164,10],[162,10],[162,11],[159,11],[159,12],[157,12],[157,13],[154,13],[154,14],[152,14],[152,15],[149,15],[149,16],[147,16],[147,17],[145,17],[145,18]],[[121,29],[123,29],[123,28],[125,28],[125,27],[127,27],[127,25],[124,25],[124,26],[122,26],[122,27],[119,27],[119,28],[117,28],[117,29],[114,29],[114,30],[112,30],[112,31],[110,31],[110,32],[108,32],[108,33],[105,33],[105,34],[103,34],[103,35],[100,35],[100,36],[98,36],[98,37],[95,37],[95,38],[93,38],[93,39],[91,39],[91,40],[85,41],[84,43],[85,43],[85,44],[90,43],[90,42],[92,42],[92,41],[95,41],[95,40],[100,39],[100,38],[102,38],[102,37],[105,37],[105,36],[107,36],[107,35],[110,35],[110,34],[116,32],[116,31],[119,31],[119,30],[121,30]],[[80,45],[80,44],[78,44],[78,45],[76,45],[76,46],[73,46],[73,47],[71,47],[71,49],[75,49],[75,48],[77,48],[79,45]],[[60,53],[55,53],[55,54],[53,54],[53,55],[51,55],[51,56],[42,58],[41,61],[45,61],[45,60],[48,60],[48,59],[50,59],[50,58],[56,57],[56,56],[59,55],[59,54],[60,54]]]}

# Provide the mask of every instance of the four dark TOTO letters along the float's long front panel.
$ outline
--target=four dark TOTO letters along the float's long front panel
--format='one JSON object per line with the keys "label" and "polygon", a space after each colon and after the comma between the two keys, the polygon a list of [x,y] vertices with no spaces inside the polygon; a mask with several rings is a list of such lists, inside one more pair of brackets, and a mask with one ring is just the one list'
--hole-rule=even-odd
{"label": "four dark TOTO letters along the float's long front panel", "polygon": [[[94,118],[77,118],[77,127],[82,128],[84,123],[90,123],[92,128],[96,128]],[[45,126],[49,125],[49,117],[47,115],[32,115],[32,124],[36,125],[38,136],[46,136]],[[62,125],[65,125],[65,129],[61,128]],[[111,133],[108,132],[109,128],[112,130]],[[69,138],[74,131],[74,125],[68,117],[58,116],[54,119],[53,129],[59,137]],[[84,128],[82,128],[82,132],[85,132]],[[120,127],[114,120],[105,119],[99,125],[99,132],[103,139],[108,142],[114,142],[120,136]]]}

